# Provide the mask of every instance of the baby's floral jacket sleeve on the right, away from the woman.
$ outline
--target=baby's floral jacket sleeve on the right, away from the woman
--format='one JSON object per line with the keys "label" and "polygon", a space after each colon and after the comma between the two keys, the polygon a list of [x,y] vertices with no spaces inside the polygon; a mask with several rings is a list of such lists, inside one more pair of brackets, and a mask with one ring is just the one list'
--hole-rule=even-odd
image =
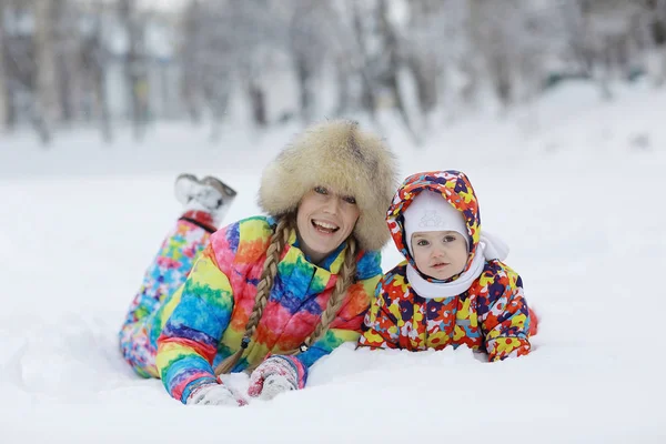
{"label": "baby's floral jacket sleeve on the right, away from the woman", "polygon": [[526,355],[531,350],[531,319],[523,295],[523,281],[515,271],[498,261],[492,261],[488,268],[492,272],[484,272],[480,278],[488,292],[478,305],[488,360]]}

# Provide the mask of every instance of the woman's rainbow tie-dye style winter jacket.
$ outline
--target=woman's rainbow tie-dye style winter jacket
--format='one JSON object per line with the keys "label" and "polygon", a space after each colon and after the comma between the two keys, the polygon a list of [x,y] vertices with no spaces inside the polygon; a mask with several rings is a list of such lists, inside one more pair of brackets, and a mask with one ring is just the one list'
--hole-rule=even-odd
{"label": "woman's rainbow tie-dye style winter jacket", "polygon": [[[183,403],[201,384],[215,382],[214,365],[240,349],[256,294],[274,222],[251,218],[210,238],[185,283],[164,303],[157,366],[167,391]],[[310,335],[332,295],[345,245],[320,266],[296,246],[295,232],[282,252],[273,290],[256,333],[233,369],[240,372],[269,354],[296,349]],[[345,341],[356,341],[372,292],[382,275],[379,252],[356,256],[356,282],[350,287],[329,332],[296,355],[306,369]]]}

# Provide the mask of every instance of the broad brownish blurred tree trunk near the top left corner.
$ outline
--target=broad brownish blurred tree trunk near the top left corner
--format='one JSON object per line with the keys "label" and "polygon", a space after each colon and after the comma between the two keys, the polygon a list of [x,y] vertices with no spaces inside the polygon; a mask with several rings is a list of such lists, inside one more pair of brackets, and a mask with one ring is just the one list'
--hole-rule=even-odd
{"label": "broad brownish blurred tree trunk near the top left corner", "polygon": [[44,144],[51,142],[53,127],[62,113],[58,97],[58,64],[54,48],[56,3],[34,2],[34,52],[37,62],[37,88],[33,122]]}

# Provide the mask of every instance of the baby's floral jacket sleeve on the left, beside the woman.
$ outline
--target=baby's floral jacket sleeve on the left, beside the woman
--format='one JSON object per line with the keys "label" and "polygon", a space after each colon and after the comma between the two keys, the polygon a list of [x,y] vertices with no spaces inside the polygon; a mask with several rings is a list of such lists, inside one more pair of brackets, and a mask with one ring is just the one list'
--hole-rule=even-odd
{"label": "baby's floral jacket sleeve on the left, beside the woman", "polygon": [[[389,284],[390,285],[390,284]],[[383,278],[375,291],[375,297],[365,315],[363,334],[359,337],[360,346],[372,349],[398,349],[397,320],[389,311],[386,278]]]}

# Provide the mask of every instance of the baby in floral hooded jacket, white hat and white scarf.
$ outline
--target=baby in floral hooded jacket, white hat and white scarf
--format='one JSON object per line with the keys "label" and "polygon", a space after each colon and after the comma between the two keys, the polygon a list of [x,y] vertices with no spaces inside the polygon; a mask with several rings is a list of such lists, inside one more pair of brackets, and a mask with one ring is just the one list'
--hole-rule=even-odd
{"label": "baby in floral hooded jacket, white hat and white scarf", "polygon": [[380,281],[359,345],[422,351],[464,344],[490,361],[529,353],[536,317],[523,281],[501,262],[507,246],[482,231],[464,173],[411,175],[386,220],[405,261]]}

